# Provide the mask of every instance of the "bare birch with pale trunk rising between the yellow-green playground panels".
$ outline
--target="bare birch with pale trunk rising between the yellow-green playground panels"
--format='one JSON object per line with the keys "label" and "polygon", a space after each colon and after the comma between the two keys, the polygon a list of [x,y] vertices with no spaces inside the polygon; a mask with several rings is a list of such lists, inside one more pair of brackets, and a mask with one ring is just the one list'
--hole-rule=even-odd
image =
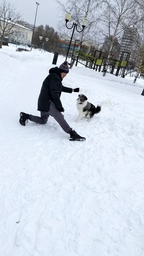
{"label": "bare birch with pale trunk rising between the yellow-green playground panels", "polygon": [[108,34],[112,35],[112,42],[103,76],[106,75],[116,37],[120,35],[123,30],[126,30],[126,28],[129,28],[137,22],[137,4],[135,0],[104,0],[104,3],[106,9],[103,16],[103,25],[108,28]]}

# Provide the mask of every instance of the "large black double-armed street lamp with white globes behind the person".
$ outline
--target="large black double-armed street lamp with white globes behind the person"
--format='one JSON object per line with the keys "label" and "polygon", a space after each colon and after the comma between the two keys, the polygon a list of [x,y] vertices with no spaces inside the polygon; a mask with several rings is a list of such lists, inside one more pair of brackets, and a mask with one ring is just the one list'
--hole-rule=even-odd
{"label": "large black double-armed street lamp with white globes behind the person", "polygon": [[[66,28],[68,28],[68,26],[67,26],[67,23],[68,23],[68,21],[70,21],[70,19],[71,19],[71,14],[68,12],[67,14],[66,14],[66,16],[65,16],[65,20],[66,20]],[[88,24],[88,20],[86,19],[86,18],[84,18],[83,20],[82,20],[82,30],[81,31],[78,31],[78,29],[77,29],[77,27],[78,27],[78,23],[73,23],[73,25],[72,25],[72,27],[71,28],[68,28],[68,29],[72,29],[73,28],[73,31],[72,31],[72,36],[71,36],[71,39],[70,39],[70,44],[69,44],[69,46],[68,46],[68,52],[67,52],[67,54],[66,54],[66,60],[67,60],[67,58],[68,58],[68,53],[69,53],[69,50],[70,50],[70,45],[71,45],[71,42],[72,42],[72,37],[73,37],[73,35],[74,35],[74,30],[75,30],[75,28],[76,28],[76,31],[77,32],[82,32],[83,30],[84,30],[84,28],[86,27],[86,25]]]}

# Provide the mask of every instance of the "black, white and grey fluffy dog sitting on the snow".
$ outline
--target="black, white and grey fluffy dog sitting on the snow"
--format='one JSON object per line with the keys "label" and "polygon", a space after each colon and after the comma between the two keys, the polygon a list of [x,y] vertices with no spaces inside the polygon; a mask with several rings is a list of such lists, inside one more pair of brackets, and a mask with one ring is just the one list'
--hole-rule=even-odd
{"label": "black, white and grey fluffy dog sitting on the snow", "polygon": [[101,106],[95,107],[92,103],[86,101],[88,98],[84,94],[79,94],[76,102],[76,107],[79,112],[76,122],[80,122],[83,117],[87,117],[88,121],[101,110]]}

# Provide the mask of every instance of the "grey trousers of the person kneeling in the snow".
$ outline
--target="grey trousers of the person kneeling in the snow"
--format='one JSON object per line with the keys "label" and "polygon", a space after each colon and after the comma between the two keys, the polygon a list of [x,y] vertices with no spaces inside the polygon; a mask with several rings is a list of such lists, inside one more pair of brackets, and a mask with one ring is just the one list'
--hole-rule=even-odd
{"label": "grey trousers of the person kneeling in the snow", "polygon": [[70,128],[62,113],[57,110],[54,102],[50,102],[50,109],[48,112],[40,112],[40,117],[30,115],[30,121],[38,124],[46,124],[50,115],[53,116],[58,124],[60,124],[64,132],[70,133],[72,131],[72,128]]}

